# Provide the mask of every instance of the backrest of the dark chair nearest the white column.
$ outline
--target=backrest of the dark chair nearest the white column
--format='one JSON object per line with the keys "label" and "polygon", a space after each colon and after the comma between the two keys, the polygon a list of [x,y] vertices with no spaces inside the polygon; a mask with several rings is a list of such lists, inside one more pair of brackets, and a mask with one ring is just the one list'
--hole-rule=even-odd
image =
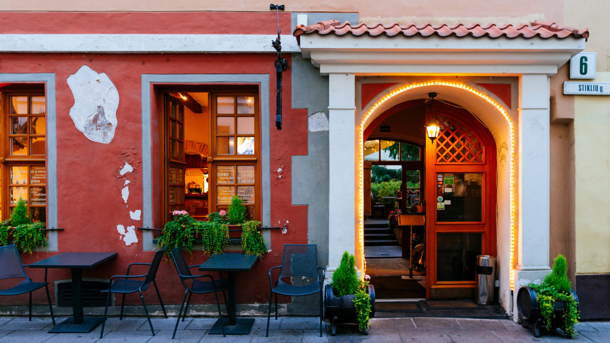
{"label": "backrest of the dark chair nearest the white column", "polygon": [[315,244],[284,244],[279,278],[306,276],[318,278],[318,252]]}

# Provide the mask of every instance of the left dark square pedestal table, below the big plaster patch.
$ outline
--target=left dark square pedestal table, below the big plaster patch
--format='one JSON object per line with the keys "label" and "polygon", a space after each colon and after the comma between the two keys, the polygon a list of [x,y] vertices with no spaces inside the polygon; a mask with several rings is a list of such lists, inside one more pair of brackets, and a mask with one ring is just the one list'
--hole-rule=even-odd
{"label": "left dark square pedestal table, below the big plaster patch", "polygon": [[83,316],[82,269],[93,268],[117,256],[116,252],[63,252],[30,264],[30,268],[72,269],[72,317],[49,330],[49,333],[90,333],[102,324],[102,317]]}

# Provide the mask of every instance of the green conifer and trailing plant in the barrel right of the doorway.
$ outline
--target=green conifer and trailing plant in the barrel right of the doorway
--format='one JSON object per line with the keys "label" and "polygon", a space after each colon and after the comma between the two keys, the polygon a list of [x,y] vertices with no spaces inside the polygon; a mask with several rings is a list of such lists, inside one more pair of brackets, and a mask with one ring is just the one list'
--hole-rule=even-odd
{"label": "green conifer and trailing plant in the barrel right of the doorway", "polygon": [[574,337],[574,325],[578,324],[580,319],[580,311],[578,311],[578,303],[570,292],[572,284],[566,274],[567,262],[563,255],[558,255],[554,260],[553,272],[544,278],[540,285],[530,283],[529,288],[536,291],[537,302],[540,305],[540,313],[544,319],[544,324],[551,325],[554,318],[554,303],[566,302],[567,310],[564,310],[561,330],[566,336]]}

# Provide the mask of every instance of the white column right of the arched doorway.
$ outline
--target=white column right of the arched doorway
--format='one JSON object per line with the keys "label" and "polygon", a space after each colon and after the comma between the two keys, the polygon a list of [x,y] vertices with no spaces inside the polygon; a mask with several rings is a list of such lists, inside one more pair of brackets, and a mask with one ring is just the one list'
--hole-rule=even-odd
{"label": "white column right of the arched doorway", "polygon": [[517,292],[540,283],[550,272],[550,83],[547,74],[519,78],[519,253],[514,272],[513,314]]}

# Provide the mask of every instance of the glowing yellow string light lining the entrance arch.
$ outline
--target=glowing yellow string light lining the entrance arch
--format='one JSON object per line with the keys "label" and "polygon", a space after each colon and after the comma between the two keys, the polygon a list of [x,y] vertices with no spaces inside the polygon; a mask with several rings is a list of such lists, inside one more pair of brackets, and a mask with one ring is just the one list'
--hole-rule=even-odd
{"label": "glowing yellow string light lining the entrance arch", "polygon": [[407,90],[412,90],[414,88],[419,88],[419,87],[426,87],[426,86],[433,86],[433,85],[440,85],[440,86],[448,86],[448,87],[454,87],[454,88],[460,88],[462,90],[466,90],[469,91],[470,93],[476,94],[477,96],[485,99],[487,102],[489,102],[489,104],[493,105],[493,107],[497,108],[498,111],[500,111],[500,113],[502,113],[502,115],[504,116],[504,118],[506,119],[506,121],[508,121],[508,125],[511,129],[511,161],[510,161],[510,168],[511,168],[511,255],[510,255],[510,266],[511,266],[511,289],[513,289],[513,266],[514,266],[514,251],[515,251],[515,197],[514,197],[514,185],[515,185],[515,179],[514,179],[514,175],[515,175],[515,171],[514,171],[514,158],[515,158],[515,130],[514,130],[514,124],[512,124],[511,118],[509,118],[509,116],[506,114],[506,111],[504,110],[504,108],[502,108],[500,105],[497,104],[497,102],[493,101],[490,97],[486,96],[485,94],[473,90],[473,88],[470,88],[466,85],[462,85],[460,83],[451,83],[451,82],[426,82],[426,83],[417,83],[414,85],[409,85],[406,87],[402,87],[398,90],[392,91],[391,93],[387,94],[385,97],[383,97],[379,102],[377,102],[377,104],[375,104],[373,107],[371,107],[370,111],[368,111],[367,115],[364,117],[364,119],[362,119],[362,122],[360,124],[360,160],[358,163],[359,166],[359,175],[360,175],[360,181],[359,181],[359,185],[360,185],[360,204],[359,204],[359,239],[360,239],[360,258],[361,258],[361,266],[362,266],[362,272],[361,272],[361,279],[364,280],[364,275],[366,272],[366,262],[364,260],[364,192],[362,191],[364,189],[364,149],[362,149],[362,146],[364,146],[364,124],[365,122],[368,120],[368,118],[370,118],[370,116],[373,114],[373,112],[384,102],[386,102],[387,100],[391,99],[392,97],[396,96],[397,94],[403,93],[404,91]]}

